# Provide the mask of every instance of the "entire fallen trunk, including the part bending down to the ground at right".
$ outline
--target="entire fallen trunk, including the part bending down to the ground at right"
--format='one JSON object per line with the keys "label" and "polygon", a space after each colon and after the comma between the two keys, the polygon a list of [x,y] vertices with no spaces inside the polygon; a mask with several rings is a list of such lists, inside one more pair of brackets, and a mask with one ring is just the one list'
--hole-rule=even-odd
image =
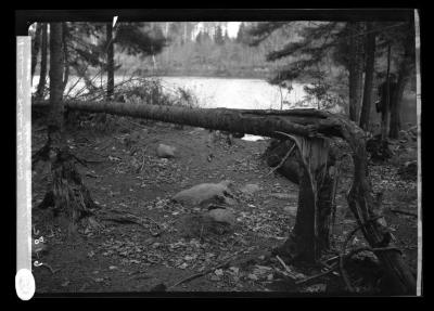
{"label": "entire fallen trunk, including the part bending down to the ground at right", "polygon": [[[35,103],[35,106],[43,103]],[[255,111],[227,108],[187,108],[116,102],[65,102],[71,109],[108,113],[136,118],[203,127],[286,139],[280,132],[305,138],[343,138],[353,151],[354,182],[348,206],[372,248],[391,246],[391,233],[383,218],[378,217],[371,186],[367,179],[365,132],[343,116],[316,109]],[[374,220],[373,220],[374,219]],[[397,294],[414,294],[416,280],[399,252],[375,254],[397,285]]]}

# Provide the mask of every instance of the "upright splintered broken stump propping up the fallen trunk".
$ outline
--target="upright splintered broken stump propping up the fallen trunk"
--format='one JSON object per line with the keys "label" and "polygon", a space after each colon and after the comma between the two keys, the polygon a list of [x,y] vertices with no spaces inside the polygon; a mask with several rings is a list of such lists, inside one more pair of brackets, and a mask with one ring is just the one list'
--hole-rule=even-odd
{"label": "upright splintered broken stump propping up the fallen trunk", "polygon": [[329,161],[327,139],[292,137],[301,166],[298,208],[295,225],[286,242],[273,252],[292,261],[315,262],[330,247],[330,217],[332,211],[333,177]]}

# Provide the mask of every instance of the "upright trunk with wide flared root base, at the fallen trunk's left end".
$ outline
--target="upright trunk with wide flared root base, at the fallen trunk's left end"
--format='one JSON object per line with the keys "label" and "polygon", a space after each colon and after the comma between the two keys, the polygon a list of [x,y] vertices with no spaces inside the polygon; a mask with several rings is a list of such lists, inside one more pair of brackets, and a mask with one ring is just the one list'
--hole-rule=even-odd
{"label": "upright trunk with wide flared root base, at the fallen trunk's left end", "polygon": [[[64,135],[63,103],[63,49],[62,24],[50,24],[50,113],[48,118],[47,144],[37,153],[51,164],[52,183],[49,185],[40,208],[52,207],[53,215],[68,220],[68,232],[74,233],[76,223],[92,215],[95,207],[89,191],[74,165]],[[91,221],[92,222],[92,221]],[[93,222],[92,222],[93,223]]]}

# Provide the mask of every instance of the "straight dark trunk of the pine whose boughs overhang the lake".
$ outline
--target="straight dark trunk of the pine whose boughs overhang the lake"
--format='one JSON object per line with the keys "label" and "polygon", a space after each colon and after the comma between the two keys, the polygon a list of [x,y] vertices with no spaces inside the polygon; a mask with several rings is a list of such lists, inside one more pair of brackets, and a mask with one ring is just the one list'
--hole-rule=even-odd
{"label": "straight dark trunk of the pine whose boughs overhang the lake", "polygon": [[358,124],[362,89],[361,23],[349,23],[349,119]]}

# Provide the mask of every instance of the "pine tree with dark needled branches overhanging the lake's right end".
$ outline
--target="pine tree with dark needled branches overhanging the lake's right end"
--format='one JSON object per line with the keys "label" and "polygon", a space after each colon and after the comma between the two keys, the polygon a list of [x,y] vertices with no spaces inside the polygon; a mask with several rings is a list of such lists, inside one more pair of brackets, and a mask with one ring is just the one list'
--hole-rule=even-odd
{"label": "pine tree with dark needled branches overhanging the lake's right end", "polygon": [[[297,40],[292,40],[283,48],[267,55],[267,61],[276,62],[288,59],[285,66],[280,67],[271,83],[280,85],[285,80],[309,78],[316,79],[326,70],[324,62],[330,60],[337,66],[344,66],[349,73],[349,112],[350,118],[357,120],[361,99],[361,55],[360,39],[348,40],[360,35],[359,25],[349,23],[322,22],[296,24],[295,22],[258,23],[247,29],[248,42],[257,46],[277,30],[296,33]],[[324,76],[326,77],[326,76]],[[318,82],[318,81],[317,81]],[[323,89],[321,86],[320,89]]]}

